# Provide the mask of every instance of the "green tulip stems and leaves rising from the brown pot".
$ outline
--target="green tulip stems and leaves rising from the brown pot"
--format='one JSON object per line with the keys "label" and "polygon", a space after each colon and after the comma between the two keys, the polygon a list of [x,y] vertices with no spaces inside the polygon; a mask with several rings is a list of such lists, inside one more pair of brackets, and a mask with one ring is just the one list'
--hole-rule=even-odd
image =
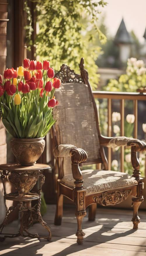
{"label": "green tulip stems and leaves rising from the brown pot", "polygon": [[55,123],[52,117],[52,109],[47,106],[48,96],[44,93],[41,98],[39,89],[27,94],[19,92],[19,94],[21,95],[20,105],[15,105],[15,95],[8,96],[6,91],[0,97],[4,126],[15,138],[44,137]]}

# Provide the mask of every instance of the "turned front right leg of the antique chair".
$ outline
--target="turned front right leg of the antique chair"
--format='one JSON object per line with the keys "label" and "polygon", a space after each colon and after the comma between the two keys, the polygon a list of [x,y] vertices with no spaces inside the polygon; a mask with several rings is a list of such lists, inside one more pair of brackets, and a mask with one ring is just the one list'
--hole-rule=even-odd
{"label": "turned front right leg of the antique chair", "polygon": [[131,221],[133,222],[133,229],[137,229],[138,228],[138,223],[140,223],[140,217],[138,216],[138,208],[140,206],[140,204],[142,203],[142,201],[138,201],[138,199],[136,198],[132,198],[132,206],[133,206],[133,218],[131,219]]}

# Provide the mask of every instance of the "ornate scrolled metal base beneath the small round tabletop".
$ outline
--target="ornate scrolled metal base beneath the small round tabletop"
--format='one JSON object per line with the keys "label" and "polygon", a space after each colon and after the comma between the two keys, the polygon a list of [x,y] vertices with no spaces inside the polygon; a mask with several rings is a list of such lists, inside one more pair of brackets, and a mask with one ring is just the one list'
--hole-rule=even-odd
{"label": "ornate scrolled metal base beneath the small round tabletop", "polygon": [[[41,192],[42,192],[42,185],[44,184],[45,181],[45,176],[43,174],[42,170],[37,170],[35,173],[33,172],[19,172],[17,175],[17,172],[13,172],[12,175],[9,174],[9,171],[3,171],[1,173],[1,180],[4,186],[4,204],[6,207],[6,217],[2,224],[0,225],[0,234],[3,230],[3,228],[6,226],[7,221],[8,221],[8,216],[9,214],[15,210],[19,209],[20,213],[20,230],[19,233],[17,234],[12,234],[12,235],[5,235],[4,237],[0,238],[0,241],[3,241],[6,237],[16,237],[16,236],[29,236],[33,238],[46,238],[48,241],[51,240],[51,231],[49,226],[46,224],[46,222],[42,219],[41,213],[40,213],[40,207],[41,207]],[[38,176],[37,176],[38,174]],[[9,181],[13,183],[12,181],[14,180],[14,184],[18,189],[18,192],[16,193],[10,193],[6,194],[6,188],[4,184],[4,178],[9,175]],[[31,181],[34,175],[34,181]],[[36,181],[40,179],[40,187],[38,190],[38,193],[30,193],[30,189],[32,189],[32,184],[34,185]],[[26,184],[26,185],[25,185]],[[28,189],[30,187],[30,189]],[[22,190],[26,189],[28,190],[28,193],[23,193]],[[35,199],[34,199],[35,197]],[[18,205],[16,207],[9,207],[7,208],[6,205],[6,199],[8,200],[16,200],[18,201]],[[38,200],[38,204],[36,204],[34,207],[31,207],[31,200]],[[48,236],[39,236],[37,233],[36,234],[31,234],[28,231],[28,228],[33,225],[34,222],[38,222],[46,228],[48,231]],[[26,235],[27,234],[27,235]]]}

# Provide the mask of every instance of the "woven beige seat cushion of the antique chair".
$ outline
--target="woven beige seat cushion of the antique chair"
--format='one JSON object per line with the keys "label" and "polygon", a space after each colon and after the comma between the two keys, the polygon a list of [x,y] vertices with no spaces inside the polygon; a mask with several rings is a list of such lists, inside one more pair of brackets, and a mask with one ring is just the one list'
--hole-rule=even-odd
{"label": "woven beige seat cushion of the antique chair", "polygon": [[[82,174],[83,187],[86,189],[86,194],[100,193],[138,184],[134,177],[119,171],[84,170]],[[62,178],[62,182],[69,187],[74,187],[74,181],[72,173]]]}

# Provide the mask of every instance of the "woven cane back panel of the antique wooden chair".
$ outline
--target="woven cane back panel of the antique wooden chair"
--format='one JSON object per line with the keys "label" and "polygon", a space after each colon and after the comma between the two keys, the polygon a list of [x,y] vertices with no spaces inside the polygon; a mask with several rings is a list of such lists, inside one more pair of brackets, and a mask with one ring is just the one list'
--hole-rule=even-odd
{"label": "woven cane back panel of the antique wooden chair", "polygon": [[91,94],[83,83],[64,83],[55,91],[59,106],[53,109],[58,144],[84,149],[88,160],[100,159],[100,143]]}

